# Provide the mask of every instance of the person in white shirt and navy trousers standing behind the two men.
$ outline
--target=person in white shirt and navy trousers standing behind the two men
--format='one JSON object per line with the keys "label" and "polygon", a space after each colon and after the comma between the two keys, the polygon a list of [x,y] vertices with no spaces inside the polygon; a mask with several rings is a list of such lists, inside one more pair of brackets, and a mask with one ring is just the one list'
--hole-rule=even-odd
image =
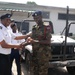
{"label": "person in white shirt and navy trousers standing behind the two men", "polygon": [[[17,35],[17,36],[20,36],[22,35],[21,33],[18,32],[18,29],[17,29],[17,24],[16,23],[12,23],[11,24],[11,29],[12,29],[12,32]],[[20,44],[22,42],[24,42],[25,39],[22,39],[22,40],[15,40],[15,39],[12,39],[11,40],[11,43],[12,44]],[[11,63],[11,75],[12,75],[12,64],[13,64],[13,60],[15,59],[15,63],[16,63],[16,67],[17,67],[17,75],[21,75],[21,61],[20,61],[20,53],[19,53],[19,50],[17,48],[12,48],[11,49],[11,54],[10,54],[10,63]]]}

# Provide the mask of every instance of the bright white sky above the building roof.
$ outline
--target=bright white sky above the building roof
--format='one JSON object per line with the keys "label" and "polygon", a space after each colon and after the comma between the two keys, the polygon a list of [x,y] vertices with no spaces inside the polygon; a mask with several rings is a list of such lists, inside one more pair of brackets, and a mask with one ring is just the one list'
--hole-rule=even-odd
{"label": "bright white sky above the building roof", "polygon": [[75,0],[0,0],[2,2],[14,2],[26,4],[28,1],[38,5],[75,8]]}

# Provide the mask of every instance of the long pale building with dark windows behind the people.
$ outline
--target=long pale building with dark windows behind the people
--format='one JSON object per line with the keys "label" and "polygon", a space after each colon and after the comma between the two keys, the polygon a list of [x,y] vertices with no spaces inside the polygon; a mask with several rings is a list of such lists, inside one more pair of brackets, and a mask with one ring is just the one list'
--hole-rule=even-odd
{"label": "long pale building with dark windows behind the people", "polygon": [[[26,22],[26,20],[33,20],[31,14],[40,10],[43,12],[43,19],[53,22],[54,32],[60,33],[66,26],[66,12],[67,7],[51,7],[40,5],[29,5],[19,3],[0,2],[0,16],[4,13],[12,13],[14,19],[23,32],[28,32],[32,29],[34,22]],[[69,23],[75,22],[75,9],[69,9]],[[22,24],[24,27],[22,27]],[[24,25],[25,24],[25,25]],[[75,34],[75,25],[72,26],[71,31]]]}

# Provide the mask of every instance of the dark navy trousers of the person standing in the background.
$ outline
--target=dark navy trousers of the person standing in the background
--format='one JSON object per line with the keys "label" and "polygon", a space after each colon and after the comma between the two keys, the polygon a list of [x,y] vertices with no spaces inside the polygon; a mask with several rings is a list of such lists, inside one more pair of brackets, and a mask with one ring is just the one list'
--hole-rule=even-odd
{"label": "dark navy trousers of the person standing in the background", "polygon": [[11,54],[10,54],[11,75],[12,75],[12,64],[14,59],[15,59],[16,67],[17,67],[17,75],[21,75],[21,63],[20,63],[19,50],[12,48]]}

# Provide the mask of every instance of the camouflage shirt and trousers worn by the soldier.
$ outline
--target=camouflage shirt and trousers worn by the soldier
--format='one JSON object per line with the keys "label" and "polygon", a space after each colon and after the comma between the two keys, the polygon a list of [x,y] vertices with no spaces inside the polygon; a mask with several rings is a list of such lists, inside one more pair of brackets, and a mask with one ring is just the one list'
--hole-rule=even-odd
{"label": "camouflage shirt and trousers worn by the soldier", "polygon": [[[35,40],[45,40],[51,38],[50,27],[41,25],[33,26],[32,38]],[[46,44],[32,44],[33,56],[30,66],[30,75],[48,75],[49,60],[51,59],[51,47]]]}

